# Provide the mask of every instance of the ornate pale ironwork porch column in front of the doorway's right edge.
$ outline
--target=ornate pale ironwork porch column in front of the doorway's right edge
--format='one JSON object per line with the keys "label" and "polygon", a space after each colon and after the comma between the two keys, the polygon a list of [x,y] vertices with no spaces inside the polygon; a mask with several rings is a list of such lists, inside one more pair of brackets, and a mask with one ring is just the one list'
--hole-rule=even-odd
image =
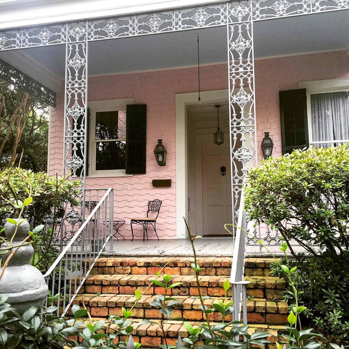
{"label": "ornate pale ironwork porch column in front of the doorway's right edge", "polygon": [[256,165],[252,0],[228,6],[228,74],[233,224],[247,171]]}

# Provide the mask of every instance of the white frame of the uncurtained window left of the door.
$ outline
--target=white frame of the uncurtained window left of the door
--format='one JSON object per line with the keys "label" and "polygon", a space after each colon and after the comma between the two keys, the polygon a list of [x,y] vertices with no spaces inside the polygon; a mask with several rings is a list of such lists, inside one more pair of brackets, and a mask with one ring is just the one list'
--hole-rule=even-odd
{"label": "white frame of the uncurtained window left of the door", "polygon": [[106,111],[126,110],[127,104],[133,104],[133,98],[108,99],[107,101],[92,101],[87,105],[90,108],[90,135],[88,138],[88,176],[87,177],[129,177],[125,169],[96,170],[96,113]]}

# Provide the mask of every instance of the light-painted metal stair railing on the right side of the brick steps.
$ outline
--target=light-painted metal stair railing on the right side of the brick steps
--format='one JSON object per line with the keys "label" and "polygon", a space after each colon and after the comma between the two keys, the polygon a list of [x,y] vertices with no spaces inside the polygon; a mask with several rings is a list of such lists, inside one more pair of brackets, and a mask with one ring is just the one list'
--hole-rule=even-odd
{"label": "light-painted metal stair railing on the right side of the brick steps", "polygon": [[[246,299],[246,285],[249,281],[244,281],[245,269],[245,251],[246,238],[249,227],[246,220],[246,214],[243,210],[243,191],[240,198],[239,215],[237,221],[232,271],[230,273],[230,284],[232,284],[232,297],[234,302],[233,321],[241,320],[241,306],[242,306],[242,322],[247,325],[247,299]],[[238,325],[235,325],[238,326]]]}

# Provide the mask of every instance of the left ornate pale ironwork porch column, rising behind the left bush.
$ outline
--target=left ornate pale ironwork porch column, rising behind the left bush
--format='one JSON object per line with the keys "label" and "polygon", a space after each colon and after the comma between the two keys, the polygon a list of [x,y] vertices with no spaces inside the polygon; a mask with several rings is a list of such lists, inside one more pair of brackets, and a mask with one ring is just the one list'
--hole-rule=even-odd
{"label": "left ornate pale ironwork porch column, rising behind the left bush", "polygon": [[[87,127],[87,22],[67,25],[64,100],[64,149],[63,174],[78,176],[85,189],[86,173],[86,127]],[[82,215],[74,208],[67,210],[61,239],[69,238],[67,232],[76,231],[75,225],[82,222]]]}

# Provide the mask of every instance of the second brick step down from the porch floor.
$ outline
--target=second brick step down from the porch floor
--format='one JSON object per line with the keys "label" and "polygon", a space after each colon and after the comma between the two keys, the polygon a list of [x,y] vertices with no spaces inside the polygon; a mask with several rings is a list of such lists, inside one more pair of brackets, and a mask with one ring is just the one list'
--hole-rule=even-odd
{"label": "second brick step down from the porch floor", "polygon": [[[86,279],[81,293],[88,294],[134,294],[136,288],[147,295],[161,294],[164,290],[156,285],[150,285],[155,275],[92,275]],[[224,296],[223,282],[227,276],[200,276],[202,295]],[[247,287],[247,295],[255,298],[281,299],[286,282],[278,277],[246,276],[245,280],[251,282]],[[197,296],[196,279],[193,275],[177,275],[172,277],[172,282],[182,282],[179,287],[172,288],[172,295]],[[231,296],[231,290],[228,291]]]}

